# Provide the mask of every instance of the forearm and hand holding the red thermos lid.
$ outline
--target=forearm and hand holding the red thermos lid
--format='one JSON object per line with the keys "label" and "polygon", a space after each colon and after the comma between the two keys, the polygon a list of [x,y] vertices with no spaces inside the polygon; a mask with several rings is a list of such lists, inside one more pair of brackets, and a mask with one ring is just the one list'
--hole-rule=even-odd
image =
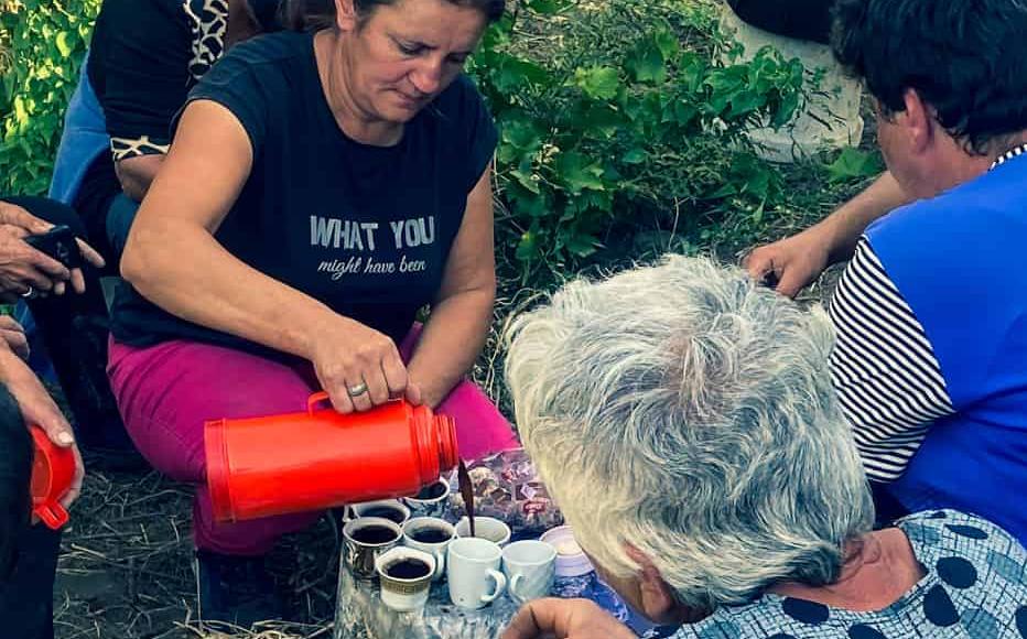
{"label": "forearm and hand holding the red thermos lid", "polygon": [[61,499],[61,505],[67,508],[82,492],[82,480],[86,474],[72,425],[64,419],[61,409],[25,362],[7,354],[0,358],[0,379],[18,401],[25,425],[40,426],[51,442],[75,452],[75,477],[72,479],[72,488]]}

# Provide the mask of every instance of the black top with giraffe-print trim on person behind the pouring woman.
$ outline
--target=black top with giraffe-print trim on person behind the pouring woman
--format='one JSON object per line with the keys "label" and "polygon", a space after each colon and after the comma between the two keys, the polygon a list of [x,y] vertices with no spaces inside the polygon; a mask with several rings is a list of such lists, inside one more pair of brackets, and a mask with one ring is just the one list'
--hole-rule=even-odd
{"label": "black top with giraffe-print trim on person behind the pouring woman", "polygon": [[89,237],[106,243],[115,161],[163,154],[171,120],[221,56],[227,0],[104,0],[89,45],[89,84],[104,109],[111,152],[97,158],[73,203]]}

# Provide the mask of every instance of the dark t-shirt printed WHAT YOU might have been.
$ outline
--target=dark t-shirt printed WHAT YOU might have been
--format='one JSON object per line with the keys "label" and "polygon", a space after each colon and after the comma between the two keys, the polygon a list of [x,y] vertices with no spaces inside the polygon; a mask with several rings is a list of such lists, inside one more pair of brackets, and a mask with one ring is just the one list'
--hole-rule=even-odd
{"label": "dark t-shirt printed WHAT YOU might have been", "polygon": [[[257,270],[400,340],[441,285],[467,194],[491,160],[496,130],[460,76],[389,148],[338,128],[310,33],[278,33],[231,50],[190,94],[246,129],[253,167],[217,240]],[[145,346],[241,339],[188,324],[126,286],[115,337]]]}

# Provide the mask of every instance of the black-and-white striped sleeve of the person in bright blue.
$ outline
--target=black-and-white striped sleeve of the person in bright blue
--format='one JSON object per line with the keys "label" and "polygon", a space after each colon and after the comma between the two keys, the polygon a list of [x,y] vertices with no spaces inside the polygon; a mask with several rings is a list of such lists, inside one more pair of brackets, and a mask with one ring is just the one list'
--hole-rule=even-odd
{"label": "black-and-white striped sleeve of the person in bright blue", "polygon": [[831,377],[867,477],[893,481],[952,414],[933,348],[867,239],[861,238],[830,304],[837,340]]}

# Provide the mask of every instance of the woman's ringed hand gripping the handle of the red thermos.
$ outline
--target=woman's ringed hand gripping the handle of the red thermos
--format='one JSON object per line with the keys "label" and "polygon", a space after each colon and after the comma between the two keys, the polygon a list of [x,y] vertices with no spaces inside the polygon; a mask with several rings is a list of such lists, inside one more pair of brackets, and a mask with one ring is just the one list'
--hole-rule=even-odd
{"label": "woman's ringed hand gripping the handle of the red thermos", "polygon": [[387,335],[336,316],[314,339],[311,361],[338,412],[366,411],[398,397],[421,403],[421,391]]}

